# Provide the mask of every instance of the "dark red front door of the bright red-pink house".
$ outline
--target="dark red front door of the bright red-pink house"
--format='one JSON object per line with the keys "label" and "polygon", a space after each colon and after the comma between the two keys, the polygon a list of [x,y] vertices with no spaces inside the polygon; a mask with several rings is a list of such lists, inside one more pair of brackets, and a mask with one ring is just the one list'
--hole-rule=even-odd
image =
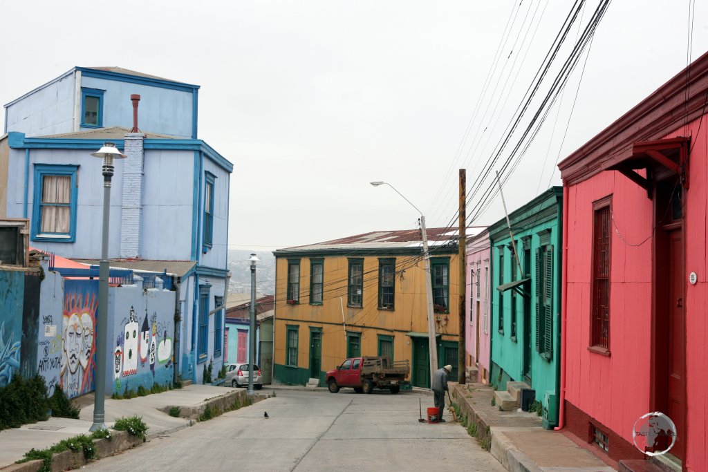
{"label": "dark red front door of the bright red-pink house", "polygon": [[685,311],[683,277],[683,231],[668,233],[668,411],[666,414],[676,425],[676,444],[671,453],[683,459],[685,441]]}

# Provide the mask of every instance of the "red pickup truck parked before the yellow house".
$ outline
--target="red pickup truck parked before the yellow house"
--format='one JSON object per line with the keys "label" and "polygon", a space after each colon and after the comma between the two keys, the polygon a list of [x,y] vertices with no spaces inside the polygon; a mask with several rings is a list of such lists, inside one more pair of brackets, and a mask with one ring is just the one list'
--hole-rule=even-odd
{"label": "red pickup truck parked before the yellow house", "polygon": [[340,387],[353,387],[356,393],[371,393],[374,388],[399,393],[408,384],[409,361],[389,362],[388,357],[352,357],[326,374],[327,387],[337,393]]}

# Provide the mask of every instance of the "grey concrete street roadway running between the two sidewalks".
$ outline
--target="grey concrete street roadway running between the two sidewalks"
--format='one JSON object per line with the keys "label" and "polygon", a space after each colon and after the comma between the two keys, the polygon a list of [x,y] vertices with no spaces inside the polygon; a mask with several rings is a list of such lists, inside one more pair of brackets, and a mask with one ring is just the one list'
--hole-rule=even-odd
{"label": "grey concrete street roadway running between the two sidewalks", "polygon": [[[418,393],[371,395],[348,388],[278,391],[169,437],[101,459],[89,470],[258,471],[450,470],[503,471],[464,428],[418,422]],[[270,419],[263,418],[267,411]],[[449,413],[446,414],[450,417]]]}

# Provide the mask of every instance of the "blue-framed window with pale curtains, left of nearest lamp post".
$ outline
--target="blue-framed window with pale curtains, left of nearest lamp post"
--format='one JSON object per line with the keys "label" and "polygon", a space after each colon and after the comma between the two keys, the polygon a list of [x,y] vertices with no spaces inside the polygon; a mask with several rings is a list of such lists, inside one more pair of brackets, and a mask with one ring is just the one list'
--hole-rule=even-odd
{"label": "blue-framed window with pale curtains, left of nearest lamp post", "polygon": [[35,164],[33,241],[76,240],[76,173],[79,166]]}

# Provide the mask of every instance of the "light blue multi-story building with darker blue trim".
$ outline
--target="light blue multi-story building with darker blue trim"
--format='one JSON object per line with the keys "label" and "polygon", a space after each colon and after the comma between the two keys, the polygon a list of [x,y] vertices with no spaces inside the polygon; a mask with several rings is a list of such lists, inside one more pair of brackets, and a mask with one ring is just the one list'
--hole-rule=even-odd
{"label": "light blue multi-story building with darker blue trim", "polygon": [[[30,219],[30,244],[85,262],[101,255],[102,161],[114,142],[109,258],[120,267],[192,262],[178,277],[173,362],[202,381],[224,358],[233,164],[197,138],[199,86],[117,67],[75,67],[5,105],[0,216]],[[139,94],[133,123],[132,94]],[[133,125],[139,125],[133,132]]]}

